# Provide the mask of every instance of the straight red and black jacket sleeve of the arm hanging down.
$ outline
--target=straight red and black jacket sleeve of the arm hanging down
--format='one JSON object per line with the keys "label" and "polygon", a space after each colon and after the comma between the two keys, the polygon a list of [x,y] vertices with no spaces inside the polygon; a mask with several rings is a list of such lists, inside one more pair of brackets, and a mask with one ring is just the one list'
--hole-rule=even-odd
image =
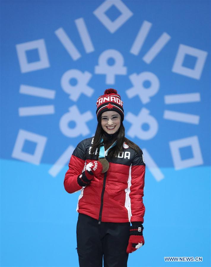
{"label": "straight red and black jacket sleeve of the arm hanging down", "polygon": [[144,196],[144,179],[145,162],[141,150],[139,154],[135,152],[131,164],[131,186],[129,193],[131,202],[131,223],[144,222],[145,206],[142,199]]}

